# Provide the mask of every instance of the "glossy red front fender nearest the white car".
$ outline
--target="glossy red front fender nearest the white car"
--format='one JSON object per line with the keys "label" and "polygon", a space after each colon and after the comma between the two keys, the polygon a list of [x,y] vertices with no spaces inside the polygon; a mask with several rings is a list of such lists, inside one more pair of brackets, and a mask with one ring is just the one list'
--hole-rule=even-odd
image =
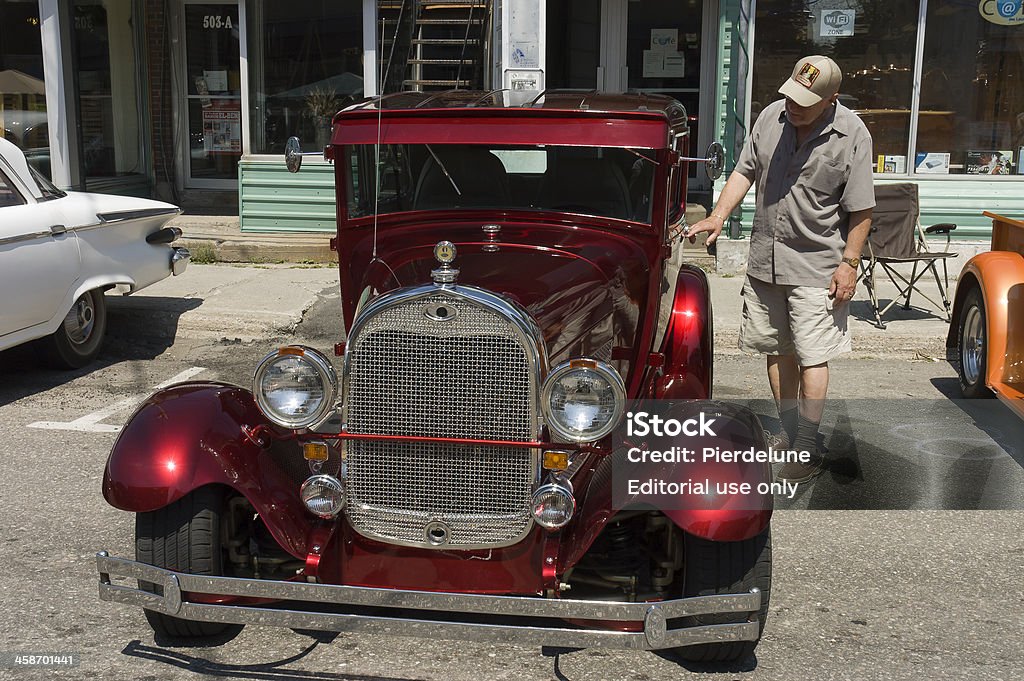
{"label": "glossy red front fender nearest the white car", "polygon": [[[132,415],[111,450],[103,498],[124,511],[163,508],[207,484],[244,495],[278,543],[305,559],[312,516],[296,482],[247,433],[269,426],[248,390],[224,383],[184,383],[152,395]],[[278,448],[295,448],[279,442]]]}

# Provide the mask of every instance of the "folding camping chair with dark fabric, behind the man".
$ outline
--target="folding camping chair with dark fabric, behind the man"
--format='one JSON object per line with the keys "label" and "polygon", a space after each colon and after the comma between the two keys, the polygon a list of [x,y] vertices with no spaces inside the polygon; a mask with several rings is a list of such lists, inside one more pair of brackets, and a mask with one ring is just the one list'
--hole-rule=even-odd
{"label": "folding camping chair with dark fabric, behind the man", "polygon": [[[871,232],[861,254],[859,279],[864,283],[870,296],[876,326],[880,329],[886,328],[882,316],[900,300],[903,300],[903,309],[910,309],[910,296],[914,291],[937,308],[944,308],[946,322],[949,322],[950,303],[946,296],[946,291],[949,289],[949,271],[946,259],[956,257],[956,253],[949,252],[949,233],[956,228],[956,225],[944,222],[923,228],[918,185],[913,182],[874,185],[874,204]],[[941,252],[929,250],[926,235],[945,235],[946,250]],[[941,281],[936,264],[939,261],[942,262]],[[901,263],[913,265],[909,280],[894,267]],[[879,302],[878,283],[874,278],[874,270],[879,265],[899,291],[899,294],[885,307]],[[918,286],[921,278],[929,271],[935,275],[935,284],[942,298],[941,306]]]}

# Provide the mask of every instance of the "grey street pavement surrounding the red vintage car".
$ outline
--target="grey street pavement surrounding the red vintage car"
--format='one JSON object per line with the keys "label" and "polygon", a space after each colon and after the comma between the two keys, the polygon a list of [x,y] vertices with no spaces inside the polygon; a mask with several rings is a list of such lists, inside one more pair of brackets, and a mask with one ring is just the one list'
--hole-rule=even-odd
{"label": "grey street pavement surrounding the red vintage car", "polygon": [[[112,298],[109,342],[89,368],[57,373],[29,348],[0,353],[0,664],[78,655],[73,669],[0,667],[0,679],[1021,678],[1024,438],[997,401],[952,399],[935,310],[900,311],[881,331],[857,301],[855,351],[833,365],[833,463],[773,518],[756,659],[722,670],[647,652],[254,626],[216,647],[154,640],[140,611],[96,597],[95,552],[132,555],[131,515],[99,495],[117,428],[175,377],[245,385],[276,344],[330,350],[344,335],[337,282],[330,266],[194,264]],[[740,285],[712,278],[715,392],[770,426],[763,360],[735,349]]]}

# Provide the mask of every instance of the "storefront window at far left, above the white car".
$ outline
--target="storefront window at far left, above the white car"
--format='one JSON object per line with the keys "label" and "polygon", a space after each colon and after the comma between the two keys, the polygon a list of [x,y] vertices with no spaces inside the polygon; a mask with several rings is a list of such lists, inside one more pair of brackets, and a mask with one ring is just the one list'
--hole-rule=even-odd
{"label": "storefront window at far left, above the white car", "polygon": [[0,2],[0,134],[51,176],[37,0]]}

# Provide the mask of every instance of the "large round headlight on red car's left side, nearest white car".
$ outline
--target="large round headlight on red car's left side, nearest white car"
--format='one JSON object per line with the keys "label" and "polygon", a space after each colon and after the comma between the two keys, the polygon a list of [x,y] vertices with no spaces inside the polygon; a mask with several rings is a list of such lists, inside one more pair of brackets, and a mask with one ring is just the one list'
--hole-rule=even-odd
{"label": "large round headlight on red car's left side, nearest white car", "polygon": [[334,408],[338,377],[316,350],[290,345],[263,357],[253,376],[256,406],[285,428],[306,428]]}

